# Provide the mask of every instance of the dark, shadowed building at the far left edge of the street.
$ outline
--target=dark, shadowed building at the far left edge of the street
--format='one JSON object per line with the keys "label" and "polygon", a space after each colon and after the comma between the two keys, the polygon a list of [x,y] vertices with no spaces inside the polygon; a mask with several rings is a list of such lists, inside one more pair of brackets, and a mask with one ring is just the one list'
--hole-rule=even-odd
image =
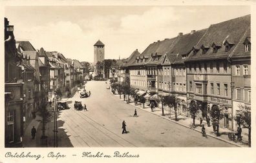
{"label": "dark, shadowed building at the far left edge of the street", "polygon": [[14,26],[5,18],[5,147],[22,146],[23,80],[22,55],[17,52]]}

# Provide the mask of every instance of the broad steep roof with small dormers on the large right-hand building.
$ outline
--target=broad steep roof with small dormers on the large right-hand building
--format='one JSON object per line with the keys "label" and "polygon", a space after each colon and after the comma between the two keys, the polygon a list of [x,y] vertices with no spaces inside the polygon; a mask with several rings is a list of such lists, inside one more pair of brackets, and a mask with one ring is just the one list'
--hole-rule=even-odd
{"label": "broad steep roof with small dormers on the large right-hand building", "polygon": [[[199,49],[197,53],[191,52],[186,61],[227,58],[248,30],[251,24],[250,19],[251,16],[246,15],[222,23],[212,24],[196,45],[197,47],[201,47],[204,44],[204,46],[210,47],[209,50],[206,53],[202,53],[202,49]],[[228,52],[226,52],[223,45],[225,41],[233,43],[233,46],[231,46]],[[216,53],[213,53],[211,47],[213,43],[220,46]]]}

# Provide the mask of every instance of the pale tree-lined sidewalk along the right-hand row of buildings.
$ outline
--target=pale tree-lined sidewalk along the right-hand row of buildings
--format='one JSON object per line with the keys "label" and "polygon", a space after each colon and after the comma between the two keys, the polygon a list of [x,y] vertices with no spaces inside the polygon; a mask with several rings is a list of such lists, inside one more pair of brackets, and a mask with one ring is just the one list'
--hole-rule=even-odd
{"label": "pale tree-lined sidewalk along the right-hand row of buildings", "polygon": [[[119,95],[114,95],[116,97],[119,97]],[[123,98],[120,99],[123,101]],[[126,101],[124,101],[126,103]],[[132,106],[135,106],[134,105],[134,102],[132,102],[132,100],[130,101],[129,103],[130,105]],[[144,104],[144,108],[142,106],[142,104],[138,104],[137,106],[135,106],[136,108],[139,108],[140,110],[144,110],[144,111],[147,111],[149,113],[153,113],[159,117],[162,117],[163,119],[166,119],[166,120],[170,120],[172,122],[175,122],[176,124],[180,124],[181,126],[184,126],[186,128],[189,128],[189,125],[193,122],[193,119],[189,118],[189,117],[184,117],[182,115],[178,115],[178,121],[175,121],[175,113],[174,111],[171,111],[171,119],[169,119],[169,113],[168,111],[164,110],[164,113],[165,115],[163,116],[162,115],[162,109],[160,108],[154,108],[153,112],[151,111],[151,108],[149,106],[147,106],[147,104]],[[138,113],[139,114],[139,113]],[[230,144],[234,144],[235,146],[239,146],[239,147],[249,147],[248,146],[248,135],[245,135],[244,133],[242,133],[242,142],[233,142],[231,140],[229,140],[228,138],[228,133],[231,132],[229,129],[222,129],[222,128],[219,128],[219,133],[220,133],[220,136],[217,137],[216,136],[216,133],[213,132],[213,128],[212,126],[208,127],[206,122],[203,122],[204,124],[204,127],[206,128],[206,134],[209,136],[209,137],[213,137],[215,139],[219,139],[219,140],[222,140],[224,142],[228,142]],[[201,129],[202,127],[200,126],[200,122],[199,120],[195,120],[195,126],[196,128],[191,128],[191,129],[194,129],[195,131],[198,131],[198,132],[201,132]]]}

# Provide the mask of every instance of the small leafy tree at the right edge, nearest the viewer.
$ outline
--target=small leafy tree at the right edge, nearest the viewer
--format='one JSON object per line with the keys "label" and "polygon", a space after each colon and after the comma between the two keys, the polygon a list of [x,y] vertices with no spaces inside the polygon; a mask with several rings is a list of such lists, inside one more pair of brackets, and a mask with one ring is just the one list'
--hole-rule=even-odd
{"label": "small leafy tree at the right edge, nearest the viewer", "polygon": [[248,128],[248,144],[251,147],[251,107],[239,105],[237,112],[234,120],[237,121],[239,127]]}

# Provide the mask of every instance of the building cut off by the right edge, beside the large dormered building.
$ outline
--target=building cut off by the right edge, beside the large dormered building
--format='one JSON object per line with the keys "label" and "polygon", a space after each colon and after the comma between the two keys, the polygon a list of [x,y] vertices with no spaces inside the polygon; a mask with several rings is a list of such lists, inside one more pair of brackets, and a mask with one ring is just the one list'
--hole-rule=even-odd
{"label": "building cut off by the right edge, beside the large dormered building", "polygon": [[[250,19],[248,17],[247,19]],[[246,26],[244,27],[246,28]],[[229,55],[231,63],[231,93],[233,116],[239,114],[241,106],[251,106],[251,29],[246,29],[239,43]],[[233,122],[234,129],[237,123]]]}

